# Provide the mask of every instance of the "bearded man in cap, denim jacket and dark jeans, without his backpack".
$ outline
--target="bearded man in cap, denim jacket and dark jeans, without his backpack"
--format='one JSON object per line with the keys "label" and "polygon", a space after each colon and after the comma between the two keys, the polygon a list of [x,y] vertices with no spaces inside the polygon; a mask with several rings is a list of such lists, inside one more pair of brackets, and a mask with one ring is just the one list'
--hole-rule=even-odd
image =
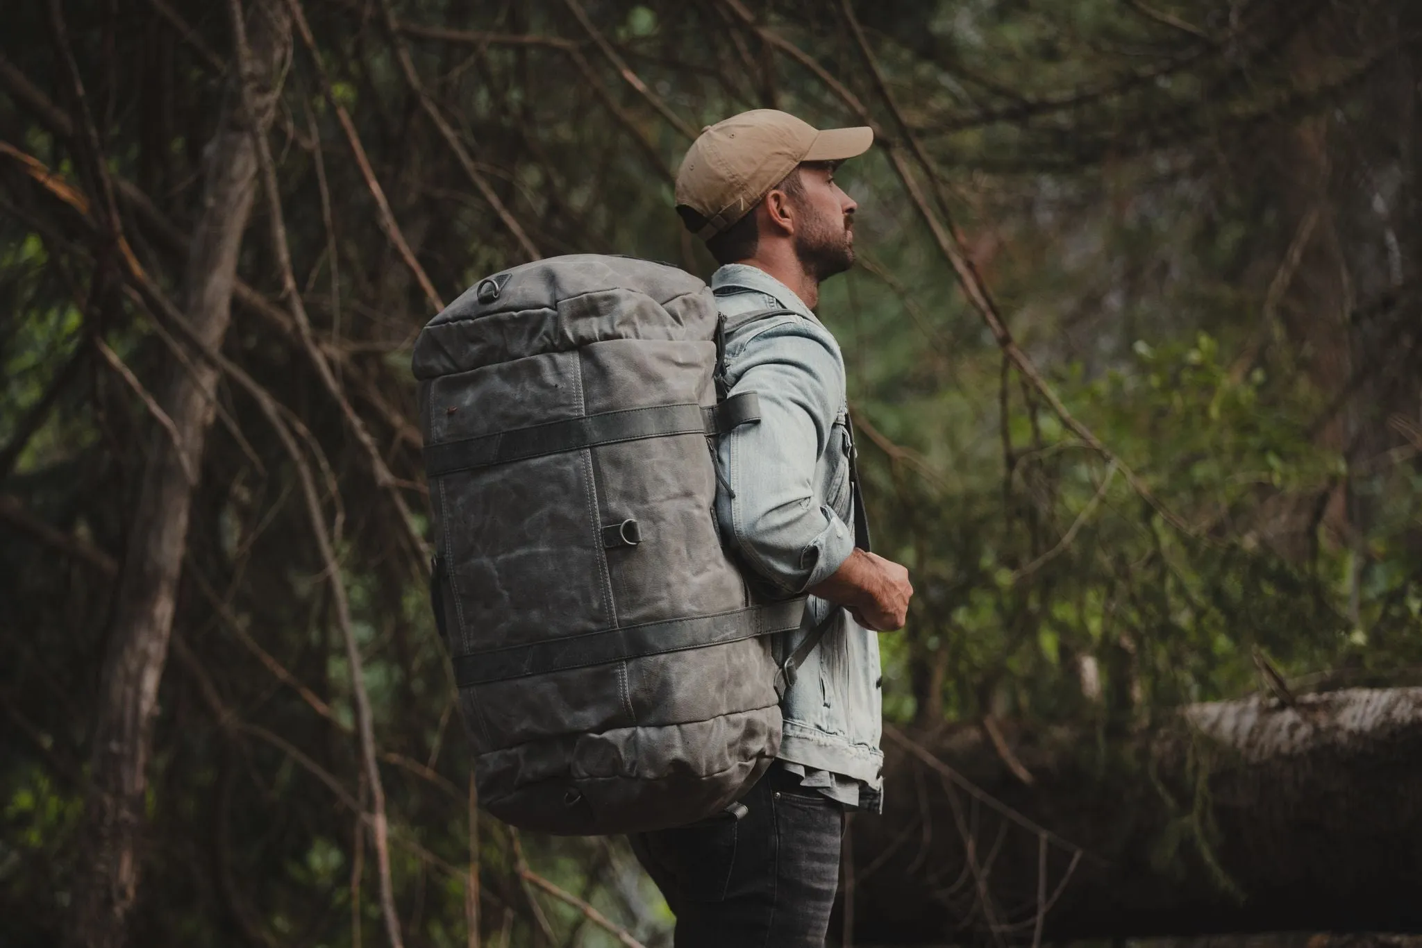
{"label": "bearded man in cap, denim jacket and dark jeans, without his backpack", "polygon": [[855,546],[845,361],[812,311],[819,284],[855,259],[856,205],[835,168],[872,142],[867,128],[820,132],[757,109],[704,129],[677,175],[677,212],[721,264],[711,287],[729,394],[761,402],[758,425],[721,439],[721,534],[754,580],[811,594],[781,654],[833,613],[781,702],[779,759],[744,810],[633,839],[677,914],[677,948],[822,945],[845,812],[880,810],[875,632],[903,627],[913,587],[904,567]]}

